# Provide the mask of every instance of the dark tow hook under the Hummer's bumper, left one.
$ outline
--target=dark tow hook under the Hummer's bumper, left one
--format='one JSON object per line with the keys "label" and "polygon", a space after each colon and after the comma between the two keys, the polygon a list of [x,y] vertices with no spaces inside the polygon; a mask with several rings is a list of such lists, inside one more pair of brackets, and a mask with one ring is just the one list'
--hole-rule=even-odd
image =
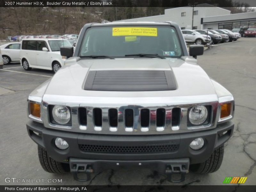
{"label": "dark tow hook under the Hummer's bumper, left one", "polygon": [[[70,171],[73,173],[74,179],[77,181],[89,181],[91,180],[91,173],[93,173],[93,169],[90,164],[70,164]],[[79,178],[78,173],[85,173],[86,178]]]}

